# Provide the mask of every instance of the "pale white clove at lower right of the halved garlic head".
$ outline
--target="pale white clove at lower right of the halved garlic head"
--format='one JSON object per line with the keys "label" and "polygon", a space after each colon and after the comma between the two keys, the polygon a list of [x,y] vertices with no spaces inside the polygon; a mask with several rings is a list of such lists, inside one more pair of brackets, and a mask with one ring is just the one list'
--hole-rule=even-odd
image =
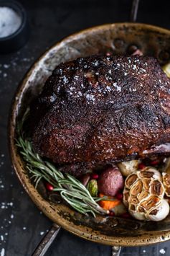
{"label": "pale white clove at lower right of the halved garlic head", "polygon": [[146,213],[146,218],[150,221],[161,221],[165,219],[168,214],[169,203],[165,199],[162,199],[158,206]]}

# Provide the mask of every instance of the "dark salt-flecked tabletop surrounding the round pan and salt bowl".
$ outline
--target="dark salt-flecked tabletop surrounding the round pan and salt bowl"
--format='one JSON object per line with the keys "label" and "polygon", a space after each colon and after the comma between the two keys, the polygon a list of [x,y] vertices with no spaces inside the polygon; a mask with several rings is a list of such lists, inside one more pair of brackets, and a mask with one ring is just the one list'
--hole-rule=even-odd
{"label": "dark salt-flecked tabletop surrounding the round pan and salt bowl", "polygon": [[[18,52],[0,56],[0,255],[4,248],[7,256],[31,255],[52,225],[24,192],[9,159],[6,127],[11,99],[19,81],[53,43],[86,27],[128,21],[131,9],[131,0],[20,2],[29,17],[29,41]],[[141,0],[137,21],[170,28],[169,12],[169,1]],[[62,230],[47,255],[110,256],[110,253],[108,246],[93,244]],[[121,255],[170,255],[170,242],[124,247]]]}

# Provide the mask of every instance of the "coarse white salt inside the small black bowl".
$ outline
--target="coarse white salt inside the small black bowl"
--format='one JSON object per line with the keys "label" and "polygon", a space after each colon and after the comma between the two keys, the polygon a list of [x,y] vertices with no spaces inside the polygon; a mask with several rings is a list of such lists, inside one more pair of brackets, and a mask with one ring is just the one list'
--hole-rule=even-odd
{"label": "coarse white salt inside the small black bowl", "polygon": [[21,17],[13,9],[0,7],[0,38],[13,34],[21,24]]}

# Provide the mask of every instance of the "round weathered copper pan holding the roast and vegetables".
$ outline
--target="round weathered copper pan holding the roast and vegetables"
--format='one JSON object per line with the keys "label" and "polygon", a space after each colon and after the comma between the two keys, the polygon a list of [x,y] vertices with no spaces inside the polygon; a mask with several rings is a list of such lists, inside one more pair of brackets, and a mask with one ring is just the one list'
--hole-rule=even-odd
{"label": "round weathered copper pan holding the roast and vegetables", "polygon": [[[82,30],[49,48],[32,66],[16,90],[9,120],[9,148],[16,175],[37,207],[51,219],[49,237],[54,238],[57,228],[93,242],[115,246],[140,246],[170,239],[170,217],[159,223],[103,216],[93,219],[73,211],[65,204],[55,204],[34,188],[15,146],[16,120],[22,115],[32,97],[41,90],[52,69],[61,62],[80,56],[111,51],[125,54],[136,45],[145,55],[154,56],[161,64],[170,56],[170,31],[161,27],[137,23],[116,23]],[[58,226],[57,226],[58,225]],[[48,237],[48,238],[49,238]],[[46,241],[47,242],[47,241]],[[35,255],[35,254],[34,254]],[[40,252],[37,255],[41,255]],[[43,255],[43,254],[42,254]]]}

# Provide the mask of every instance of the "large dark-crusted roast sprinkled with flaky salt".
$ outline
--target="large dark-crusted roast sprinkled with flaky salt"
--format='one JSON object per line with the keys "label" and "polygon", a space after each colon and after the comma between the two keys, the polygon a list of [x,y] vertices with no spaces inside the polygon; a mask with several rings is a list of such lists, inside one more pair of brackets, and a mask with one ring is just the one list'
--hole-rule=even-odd
{"label": "large dark-crusted roast sprinkled with flaky salt", "polygon": [[152,57],[62,63],[31,115],[34,150],[75,176],[103,164],[170,154],[170,79]]}

